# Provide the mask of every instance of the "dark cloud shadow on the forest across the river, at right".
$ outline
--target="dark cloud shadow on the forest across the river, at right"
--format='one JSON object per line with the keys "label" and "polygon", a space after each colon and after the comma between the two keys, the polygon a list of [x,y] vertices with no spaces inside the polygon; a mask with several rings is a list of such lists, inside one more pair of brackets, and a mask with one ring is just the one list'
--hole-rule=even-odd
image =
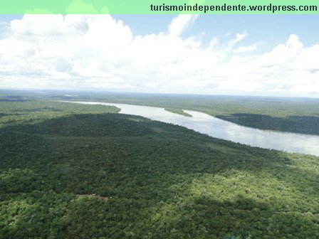
{"label": "dark cloud shadow on the forest across the river, at right", "polygon": [[319,134],[319,117],[315,116],[271,117],[270,115],[258,114],[232,114],[217,115],[216,117],[258,129]]}

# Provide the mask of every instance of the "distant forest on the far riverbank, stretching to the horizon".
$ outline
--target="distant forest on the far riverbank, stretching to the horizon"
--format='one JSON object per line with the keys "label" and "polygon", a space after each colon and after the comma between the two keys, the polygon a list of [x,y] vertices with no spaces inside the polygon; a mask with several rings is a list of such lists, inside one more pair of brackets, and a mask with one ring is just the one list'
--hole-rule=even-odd
{"label": "distant forest on the far riverbank, stretching to the horizon", "polygon": [[99,101],[196,110],[247,127],[319,135],[318,98],[0,90],[0,102],[8,100]]}

